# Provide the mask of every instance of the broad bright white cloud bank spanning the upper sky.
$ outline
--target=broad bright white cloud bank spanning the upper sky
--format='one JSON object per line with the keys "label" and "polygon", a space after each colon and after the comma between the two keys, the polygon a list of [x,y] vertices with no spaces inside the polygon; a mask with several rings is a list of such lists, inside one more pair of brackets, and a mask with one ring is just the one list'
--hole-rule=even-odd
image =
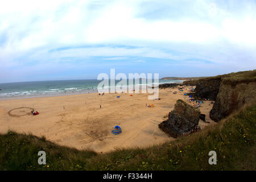
{"label": "broad bright white cloud bank spanning the upper sky", "polygon": [[[216,3],[195,1],[191,7],[193,11],[198,9],[198,14],[208,12],[212,21],[206,22],[193,17],[177,20],[138,17],[139,5],[144,1],[100,1],[102,6],[98,9],[89,8],[92,3],[97,6],[97,2],[2,1],[0,34],[6,31],[8,36],[2,51],[27,51],[61,44],[125,44],[131,40],[201,44],[226,39],[255,44],[256,16],[249,14],[249,18],[237,20]],[[171,3],[168,5],[171,11]]]}

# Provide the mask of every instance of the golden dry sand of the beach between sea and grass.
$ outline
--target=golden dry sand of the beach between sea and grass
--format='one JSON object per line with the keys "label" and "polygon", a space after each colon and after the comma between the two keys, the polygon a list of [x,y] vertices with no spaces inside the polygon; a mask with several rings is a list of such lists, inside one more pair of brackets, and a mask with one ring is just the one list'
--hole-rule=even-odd
{"label": "golden dry sand of the beach between sea and grass", "polygon": [[[177,91],[177,94],[172,92]],[[188,89],[184,89],[184,92]],[[42,98],[24,98],[0,101],[0,133],[13,130],[18,133],[45,136],[56,144],[108,152],[115,148],[144,147],[175,140],[158,128],[174,109],[176,100],[188,99],[177,89],[159,89],[161,100],[148,100],[148,94],[80,94]],[[120,96],[120,98],[117,98]],[[154,104],[154,107],[146,107]],[[192,103],[191,103],[192,104]],[[101,109],[100,109],[101,105]],[[64,107],[65,106],[65,109]],[[209,118],[212,104],[200,107],[210,123],[200,120],[199,126],[214,124]],[[28,107],[28,108],[19,108]],[[16,109],[19,108],[19,109]],[[32,115],[31,109],[39,111]],[[13,110],[14,109],[14,110]],[[113,135],[115,125],[122,134]]]}

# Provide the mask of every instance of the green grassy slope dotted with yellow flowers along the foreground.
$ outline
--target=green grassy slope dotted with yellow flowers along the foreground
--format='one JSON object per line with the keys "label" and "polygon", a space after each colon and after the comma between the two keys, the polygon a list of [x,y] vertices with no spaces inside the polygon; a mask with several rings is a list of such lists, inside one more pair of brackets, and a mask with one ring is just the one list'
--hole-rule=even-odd
{"label": "green grassy slope dotted with yellow flowers along the foreground", "polygon": [[[58,146],[32,135],[0,135],[1,170],[255,170],[256,105],[188,137],[106,154]],[[46,165],[38,151],[46,151]],[[209,151],[217,165],[208,164]],[[48,166],[48,167],[47,167]]]}

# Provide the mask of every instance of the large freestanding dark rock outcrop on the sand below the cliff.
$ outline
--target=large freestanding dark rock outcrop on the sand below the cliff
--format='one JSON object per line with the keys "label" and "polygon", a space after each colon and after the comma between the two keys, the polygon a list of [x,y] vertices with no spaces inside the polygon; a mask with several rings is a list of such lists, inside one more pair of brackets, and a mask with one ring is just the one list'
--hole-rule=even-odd
{"label": "large freestanding dark rock outcrop on the sand below the cliff", "polygon": [[198,126],[200,110],[182,100],[177,100],[174,110],[172,110],[166,121],[158,126],[170,137],[177,138],[185,133],[200,130]]}

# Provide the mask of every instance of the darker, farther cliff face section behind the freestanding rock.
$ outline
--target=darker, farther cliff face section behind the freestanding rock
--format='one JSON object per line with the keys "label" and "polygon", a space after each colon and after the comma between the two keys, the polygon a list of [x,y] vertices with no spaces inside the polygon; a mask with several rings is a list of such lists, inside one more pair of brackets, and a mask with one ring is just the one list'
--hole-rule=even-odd
{"label": "darker, farther cliff face section behind the freestanding rock", "polygon": [[196,85],[195,93],[191,93],[193,97],[215,101],[220,83],[221,77],[209,77],[201,80],[185,81],[184,85]]}

